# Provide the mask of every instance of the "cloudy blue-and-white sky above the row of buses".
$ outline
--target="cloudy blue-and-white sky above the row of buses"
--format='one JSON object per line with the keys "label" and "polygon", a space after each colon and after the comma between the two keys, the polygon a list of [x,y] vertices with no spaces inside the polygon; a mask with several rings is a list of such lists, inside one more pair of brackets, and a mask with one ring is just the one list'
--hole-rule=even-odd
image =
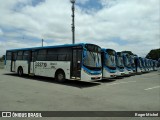
{"label": "cloudy blue-and-white sky above the row of buses", "polygon": [[[0,0],[0,56],[8,49],[71,44],[70,0]],[[160,0],[76,0],[75,42],[132,51],[160,48]]]}

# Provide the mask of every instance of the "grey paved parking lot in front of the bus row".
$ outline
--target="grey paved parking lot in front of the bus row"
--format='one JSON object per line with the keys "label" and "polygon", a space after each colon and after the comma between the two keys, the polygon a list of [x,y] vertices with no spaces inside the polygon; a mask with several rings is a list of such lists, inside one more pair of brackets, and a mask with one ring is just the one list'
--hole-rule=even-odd
{"label": "grey paved parking lot in front of the bus row", "polygon": [[94,83],[18,77],[0,69],[0,111],[160,111],[160,73]]}

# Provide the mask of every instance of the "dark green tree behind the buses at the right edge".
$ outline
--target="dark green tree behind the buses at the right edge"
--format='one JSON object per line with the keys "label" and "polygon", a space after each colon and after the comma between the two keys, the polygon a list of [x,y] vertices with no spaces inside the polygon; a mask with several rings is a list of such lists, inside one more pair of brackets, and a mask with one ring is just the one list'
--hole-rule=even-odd
{"label": "dark green tree behind the buses at the right edge", "polygon": [[151,50],[146,58],[148,59],[153,59],[153,60],[158,60],[160,58],[160,49],[153,49]]}

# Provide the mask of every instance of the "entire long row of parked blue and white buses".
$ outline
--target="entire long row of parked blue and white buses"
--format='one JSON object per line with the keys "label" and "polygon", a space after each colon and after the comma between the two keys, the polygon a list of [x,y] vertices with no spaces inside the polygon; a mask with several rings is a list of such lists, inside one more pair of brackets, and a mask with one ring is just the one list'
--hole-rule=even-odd
{"label": "entire long row of parked blue and white buses", "polygon": [[91,82],[156,71],[158,62],[82,43],[7,50],[5,69],[19,76],[53,77],[58,82]]}

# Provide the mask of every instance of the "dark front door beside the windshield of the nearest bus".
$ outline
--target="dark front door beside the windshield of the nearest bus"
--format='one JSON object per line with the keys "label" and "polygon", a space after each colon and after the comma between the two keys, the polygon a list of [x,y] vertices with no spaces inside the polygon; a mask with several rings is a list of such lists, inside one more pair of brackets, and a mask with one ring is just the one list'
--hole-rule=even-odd
{"label": "dark front door beside the windshield of the nearest bus", "polygon": [[80,79],[81,78],[81,63],[82,63],[82,50],[73,49],[72,56],[72,69],[71,78]]}

